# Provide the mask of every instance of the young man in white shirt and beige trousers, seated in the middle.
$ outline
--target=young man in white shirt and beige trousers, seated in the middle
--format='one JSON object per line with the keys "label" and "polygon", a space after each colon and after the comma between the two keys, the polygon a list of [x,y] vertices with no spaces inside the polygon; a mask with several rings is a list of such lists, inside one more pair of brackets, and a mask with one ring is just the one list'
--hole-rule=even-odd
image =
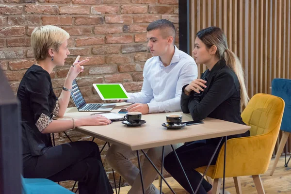
{"label": "young man in white shirt and beige trousers, seated in the middle", "polygon": [[[130,99],[127,102],[133,104],[127,110],[143,114],[181,111],[182,87],[197,78],[197,65],[191,56],[174,45],[176,30],[172,22],[156,20],[148,25],[146,31],[147,46],[153,57],[146,61],[144,67],[142,91],[129,93]],[[174,145],[175,149],[179,146]],[[162,147],[144,151],[160,169]],[[171,151],[171,146],[165,146],[164,157]],[[130,162],[130,159],[136,157],[136,151],[116,145],[112,145],[106,155],[111,167],[131,185],[129,194],[143,192],[139,169]],[[142,171],[146,194],[159,194],[159,190],[152,184],[158,173],[147,159],[143,162]]]}

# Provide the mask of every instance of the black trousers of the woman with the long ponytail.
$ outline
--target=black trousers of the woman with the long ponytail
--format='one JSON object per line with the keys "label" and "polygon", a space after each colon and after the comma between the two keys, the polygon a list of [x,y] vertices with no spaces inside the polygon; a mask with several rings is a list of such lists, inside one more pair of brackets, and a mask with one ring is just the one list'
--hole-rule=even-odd
{"label": "black trousers of the woman with the long ponytail", "polygon": [[[189,178],[194,192],[202,178],[200,173],[194,169],[208,165],[208,162],[210,161],[216,146],[217,145],[215,144],[195,143],[191,145],[184,145],[176,149],[179,160],[185,170],[187,177]],[[215,164],[218,154],[219,149],[216,152],[211,165]],[[180,185],[186,189],[187,192],[192,194],[191,188],[182,172],[174,152],[171,152],[165,157],[164,167],[173,176],[173,178],[175,178],[180,183]],[[198,194],[207,194],[211,188],[212,185],[203,179],[202,184],[198,190]]]}

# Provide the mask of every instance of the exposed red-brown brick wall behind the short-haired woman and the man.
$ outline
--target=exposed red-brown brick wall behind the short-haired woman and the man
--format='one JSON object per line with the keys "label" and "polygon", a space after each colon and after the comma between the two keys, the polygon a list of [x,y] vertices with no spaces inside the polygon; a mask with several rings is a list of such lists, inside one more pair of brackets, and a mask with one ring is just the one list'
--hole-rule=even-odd
{"label": "exposed red-brown brick wall behind the short-haired woman and the man", "polygon": [[[56,25],[70,34],[71,52],[65,66],[51,73],[57,96],[78,55],[90,59],[77,79],[87,102],[101,102],[92,83],[119,82],[129,92],[139,91],[144,64],[151,57],[146,48],[146,27],[162,18],[178,27],[178,0],[0,0],[0,67],[16,92],[25,71],[34,63],[30,48],[34,27]],[[73,141],[91,139],[76,131],[68,131],[68,135]],[[55,137],[56,144],[68,142],[64,133]],[[112,180],[110,167],[106,162],[104,165]],[[71,187],[71,182],[63,184]]]}

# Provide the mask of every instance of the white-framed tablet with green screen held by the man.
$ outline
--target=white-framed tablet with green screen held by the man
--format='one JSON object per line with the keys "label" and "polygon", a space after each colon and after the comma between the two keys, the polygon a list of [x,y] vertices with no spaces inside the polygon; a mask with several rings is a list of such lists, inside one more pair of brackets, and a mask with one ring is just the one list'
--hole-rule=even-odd
{"label": "white-framed tablet with green screen held by the man", "polygon": [[102,100],[126,100],[129,99],[128,93],[121,83],[93,83]]}

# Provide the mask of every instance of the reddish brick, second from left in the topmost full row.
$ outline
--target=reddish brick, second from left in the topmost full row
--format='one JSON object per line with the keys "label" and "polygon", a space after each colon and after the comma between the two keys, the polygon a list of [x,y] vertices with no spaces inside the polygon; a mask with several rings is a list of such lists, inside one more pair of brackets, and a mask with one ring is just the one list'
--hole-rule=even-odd
{"label": "reddish brick, second from left in the topmost full row", "polygon": [[36,4],[29,4],[25,5],[25,12],[28,14],[51,14],[57,15],[58,14],[58,6],[56,5],[36,5]]}

